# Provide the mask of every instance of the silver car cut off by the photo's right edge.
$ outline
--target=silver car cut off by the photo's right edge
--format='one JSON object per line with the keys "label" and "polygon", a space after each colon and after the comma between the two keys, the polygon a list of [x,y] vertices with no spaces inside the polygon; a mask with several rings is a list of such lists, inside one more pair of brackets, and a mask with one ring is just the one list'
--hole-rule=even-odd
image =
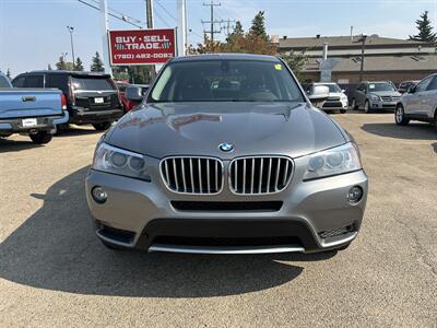
{"label": "silver car cut off by the photo's right edge", "polygon": [[437,73],[426,77],[402,95],[394,121],[405,126],[411,119],[434,124],[437,130]]}

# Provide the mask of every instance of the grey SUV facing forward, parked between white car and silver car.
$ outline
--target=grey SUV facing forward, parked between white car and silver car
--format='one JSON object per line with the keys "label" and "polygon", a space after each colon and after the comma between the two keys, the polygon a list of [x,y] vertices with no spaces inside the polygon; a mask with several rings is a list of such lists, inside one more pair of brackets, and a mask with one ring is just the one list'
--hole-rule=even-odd
{"label": "grey SUV facing forward, parked between white car and silver car", "polygon": [[370,113],[394,110],[401,94],[390,81],[362,82],[352,97],[352,108]]}

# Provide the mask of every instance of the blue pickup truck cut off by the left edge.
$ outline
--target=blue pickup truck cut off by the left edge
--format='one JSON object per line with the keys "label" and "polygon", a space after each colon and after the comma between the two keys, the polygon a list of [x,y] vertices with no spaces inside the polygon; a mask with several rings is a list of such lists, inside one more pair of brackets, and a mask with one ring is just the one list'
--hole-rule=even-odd
{"label": "blue pickup truck cut off by the left edge", "polygon": [[66,97],[59,90],[15,89],[0,72],[0,137],[25,133],[34,143],[48,143],[56,126],[68,119]]}

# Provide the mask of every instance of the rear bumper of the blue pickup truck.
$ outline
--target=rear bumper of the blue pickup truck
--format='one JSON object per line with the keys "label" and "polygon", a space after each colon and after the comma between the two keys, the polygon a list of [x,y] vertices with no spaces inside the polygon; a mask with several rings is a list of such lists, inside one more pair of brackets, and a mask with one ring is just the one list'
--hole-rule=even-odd
{"label": "rear bumper of the blue pickup truck", "polygon": [[[24,127],[23,119],[36,118],[36,126]],[[20,118],[9,118],[0,119],[0,132],[4,133],[29,133],[42,130],[54,130],[56,131],[56,126],[64,124],[69,120],[69,113],[63,110],[63,116],[34,116],[34,117],[20,117]]]}

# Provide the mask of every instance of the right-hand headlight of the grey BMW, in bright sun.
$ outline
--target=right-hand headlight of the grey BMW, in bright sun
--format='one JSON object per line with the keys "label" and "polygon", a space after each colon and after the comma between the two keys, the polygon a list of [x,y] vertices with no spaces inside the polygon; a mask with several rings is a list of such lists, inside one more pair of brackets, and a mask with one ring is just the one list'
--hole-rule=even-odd
{"label": "right-hand headlight of the grey BMW, in bright sun", "polygon": [[309,156],[304,180],[362,169],[359,152],[352,142]]}

